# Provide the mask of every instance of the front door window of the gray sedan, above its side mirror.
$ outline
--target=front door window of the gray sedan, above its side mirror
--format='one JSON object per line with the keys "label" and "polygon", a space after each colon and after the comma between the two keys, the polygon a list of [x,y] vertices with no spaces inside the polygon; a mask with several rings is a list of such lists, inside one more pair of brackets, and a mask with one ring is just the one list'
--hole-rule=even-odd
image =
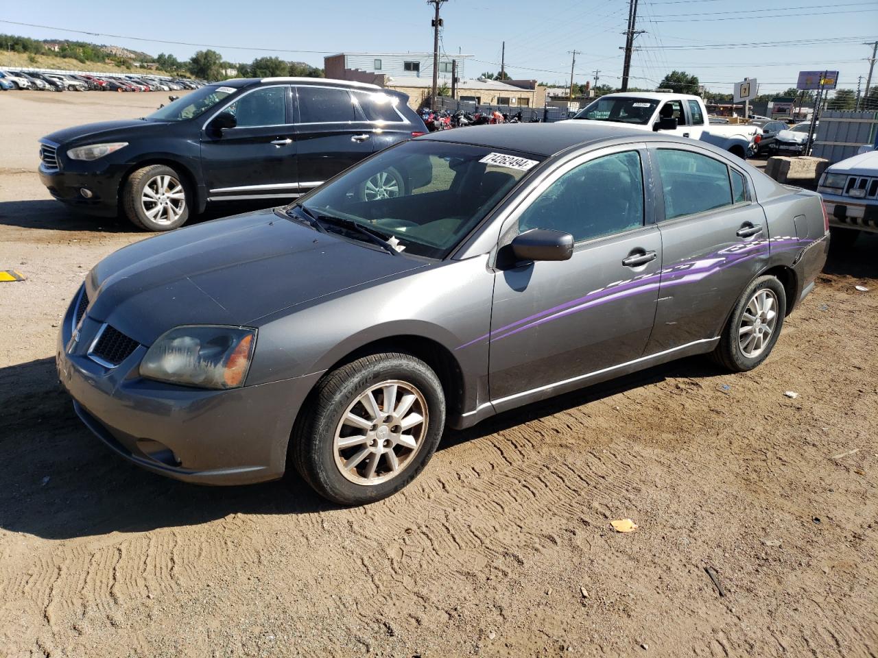
{"label": "front door window of the gray sedan, above its side mirror", "polygon": [[587,161],[553,182],[518,218],[519,232],[548,228],[593,240],[644,225],[644,179],[637,151]]}

